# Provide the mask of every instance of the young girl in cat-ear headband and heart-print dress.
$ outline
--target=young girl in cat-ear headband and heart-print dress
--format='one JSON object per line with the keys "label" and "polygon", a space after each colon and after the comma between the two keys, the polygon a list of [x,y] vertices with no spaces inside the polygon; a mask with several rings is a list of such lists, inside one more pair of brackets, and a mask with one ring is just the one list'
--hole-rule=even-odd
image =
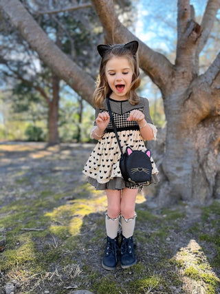
{"label": "young girl in cat-ear headband and heart-print dress", "polygon": [[[118,226],[121,219],[122,240],[120,263],[123,269],[136,264],[133,249],[135,228],[135,199],[142,188],[125,182],[119,162],[120,149],[113,132],[106,98],[109,98],[111,111],[118,130],[123,151],[126,146],[146,151],[144,140],[156,137],[157,129],[149,114],[148,100],[137,96],[135,90],[140,85],[140,72],[137,62],[138,42],[126,44],[98,45],[102,57],[98,84],[94,92],[96,121],[91,128],[91,138],[98,140],[83,173],[88,182],[107,194],[105,218],[107,244],[102,259],[104,269],[112,270],[118,262]],[[153,162],[153,158],[151,158]],[[153,162],[151,182],[158,182],[157,169]]]}

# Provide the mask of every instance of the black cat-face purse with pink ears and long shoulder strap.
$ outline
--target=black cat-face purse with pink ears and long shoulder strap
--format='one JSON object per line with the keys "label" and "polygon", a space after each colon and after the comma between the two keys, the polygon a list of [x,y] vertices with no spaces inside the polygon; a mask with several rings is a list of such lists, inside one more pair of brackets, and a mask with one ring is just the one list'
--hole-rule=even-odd
{"label": "black cat-face purse with pink ears and long shoulder strap", "polygon": [[107,106],[109,109],[111,123],[113,125],[113,131],[122,154],[120,158],[120,171],[122,173],[122,177],[124,180],[132,182],[135,185],[150,184],[152,174],[151,151],[146,150],[146,152],[143,152],[140,150],[133,150],[128,146],[123,154],[120,139],[118,138],[118,132],[111,112],[109,98],[107,98]]}

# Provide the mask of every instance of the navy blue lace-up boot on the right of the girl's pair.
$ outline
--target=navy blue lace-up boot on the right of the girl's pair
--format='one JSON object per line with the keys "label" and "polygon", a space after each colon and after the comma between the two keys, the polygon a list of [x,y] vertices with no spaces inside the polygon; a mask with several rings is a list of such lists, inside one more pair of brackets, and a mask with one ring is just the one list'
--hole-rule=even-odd
{"label": "navy blue lace-up boot on the right of the girl's pair", "polygon": [[122,244],[120,252],[120,261],[122,269],[127,269],[137,263],[133,249],[133,237],[125,238],[122,235]]}

